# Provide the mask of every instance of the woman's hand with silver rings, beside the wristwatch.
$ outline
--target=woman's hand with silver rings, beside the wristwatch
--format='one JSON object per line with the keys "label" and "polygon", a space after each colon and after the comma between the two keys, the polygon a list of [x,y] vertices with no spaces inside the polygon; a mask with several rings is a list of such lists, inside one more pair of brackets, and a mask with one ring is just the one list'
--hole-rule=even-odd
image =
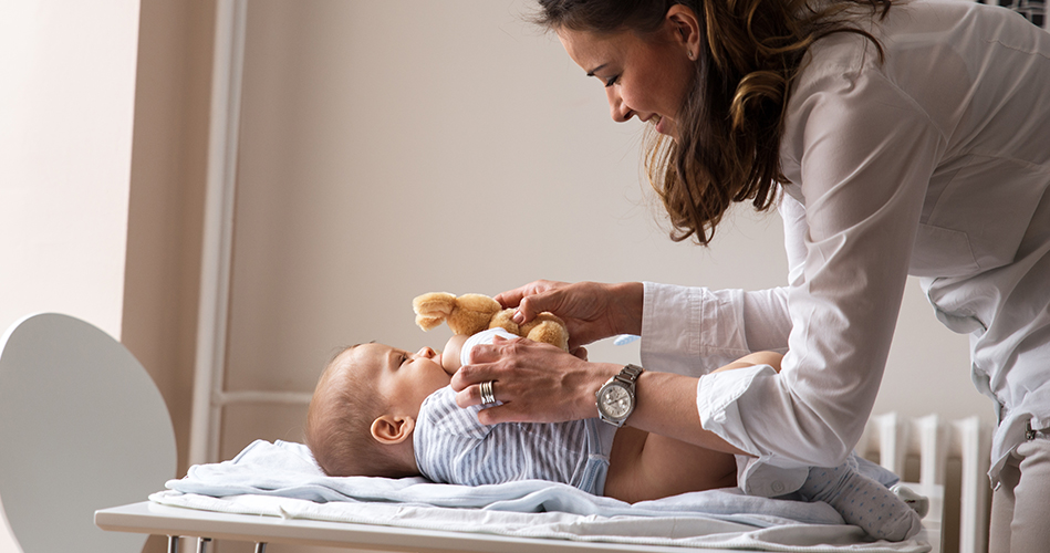
{"label": "woman's hand with silver rings, beside the wristwatch", "polygon": [[497,336],[491,345],[475,346],[451,386],[456,404],[469,407],[481,404],[480,384],[492,380],[502,405],[478,413],[484,425],[561,422],[596,417],[594,393],[620,368],[588,363],[550,344]]}

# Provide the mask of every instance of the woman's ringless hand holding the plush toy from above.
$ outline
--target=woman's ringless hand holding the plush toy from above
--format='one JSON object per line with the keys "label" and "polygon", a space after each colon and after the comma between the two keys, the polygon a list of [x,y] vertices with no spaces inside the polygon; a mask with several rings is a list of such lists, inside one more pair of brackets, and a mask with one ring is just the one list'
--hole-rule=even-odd
{"label": "woman's ringless hand holding the plush toy from above", "polygon": [[642,334],[641,282],[604,284],[599,282],[552,282],[540,280],[503,292],[496,301],[503,307],[518,307],[514,322],[531,321],[550,311],[565,322],[569,349],[617,334]]}

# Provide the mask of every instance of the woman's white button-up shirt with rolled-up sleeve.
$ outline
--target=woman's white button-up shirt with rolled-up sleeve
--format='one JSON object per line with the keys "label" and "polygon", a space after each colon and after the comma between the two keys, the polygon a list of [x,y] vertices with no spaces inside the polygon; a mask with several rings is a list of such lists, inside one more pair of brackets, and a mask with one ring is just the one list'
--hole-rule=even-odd
{"label": "woman's white button-up shirt with rolled-up sleeve", "polygon": [[646,283],[642,361],[707,371],[704,428],[780,467],[834,466],[882,379],[907,274],[971,335],[999,406],[997,471],[1025,424],[1050,426],[1050,34],[958,0],[895,3],[807,54],[788,104],[781,215],[789,282],[711,291]]}

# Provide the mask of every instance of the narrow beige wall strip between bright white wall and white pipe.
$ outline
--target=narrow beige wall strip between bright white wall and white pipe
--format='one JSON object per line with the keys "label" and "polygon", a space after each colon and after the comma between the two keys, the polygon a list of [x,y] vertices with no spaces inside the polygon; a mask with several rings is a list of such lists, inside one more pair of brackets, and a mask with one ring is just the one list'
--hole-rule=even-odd
{"label": "narrow beige wall strip between bright white wall and white pipe", "polygon": [[122,342],[160,387],[184,473],[193,403],[214,0],[144,0]]}

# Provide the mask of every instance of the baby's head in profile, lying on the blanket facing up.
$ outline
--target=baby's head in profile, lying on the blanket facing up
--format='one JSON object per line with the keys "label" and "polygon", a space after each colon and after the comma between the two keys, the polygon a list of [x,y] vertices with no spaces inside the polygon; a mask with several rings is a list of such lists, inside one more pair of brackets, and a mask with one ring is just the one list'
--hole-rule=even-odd
{"label": "baby's head in profile, lying on the blanket facing up", "polygon": [[324,368],[306,415],[306,445],[329,476],[418,474],[412,432],[423,400],[451,375],[429,347],[383,344],[340,352]]}

